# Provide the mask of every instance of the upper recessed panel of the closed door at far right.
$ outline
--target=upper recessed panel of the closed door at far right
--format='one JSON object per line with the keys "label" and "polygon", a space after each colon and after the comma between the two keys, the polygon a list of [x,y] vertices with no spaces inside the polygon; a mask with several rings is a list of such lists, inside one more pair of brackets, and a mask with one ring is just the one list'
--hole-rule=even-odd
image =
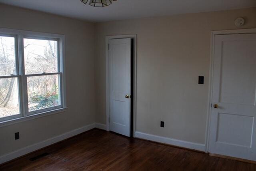
{"label": "upper recessed panel of the closed door at far right", "polygon": [[220,102],[255,105],[255,45],[252,40],[222,42]]}

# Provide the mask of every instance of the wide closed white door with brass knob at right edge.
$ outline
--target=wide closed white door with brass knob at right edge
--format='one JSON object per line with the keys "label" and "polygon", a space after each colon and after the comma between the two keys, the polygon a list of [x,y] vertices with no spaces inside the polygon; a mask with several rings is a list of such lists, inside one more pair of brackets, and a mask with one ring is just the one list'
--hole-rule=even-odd
{"label": "wide closed white door with brass knob at right edge", "polygon": [[209,152],[256,161],[256,34],[216,35]]}

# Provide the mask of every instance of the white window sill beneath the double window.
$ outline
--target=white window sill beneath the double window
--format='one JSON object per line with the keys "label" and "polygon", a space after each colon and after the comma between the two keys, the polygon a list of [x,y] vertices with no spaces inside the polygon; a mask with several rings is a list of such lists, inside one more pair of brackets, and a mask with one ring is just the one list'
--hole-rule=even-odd
{"label": "white window sill beneath the double window", "polygon": [[2,122],[0,122],[0,127],[5,127],[5,126],[12,125],[12,124],[15,124],[15,123],[29,121],[29,120],[37,119],[37,118],[40,118],[40,117],[45,117],[45,116],[48,116],[48,115],[62,113],[66,110],[67,110],[67,107],[62,107],[60,109],[54,109],[54,110],[51,110],[51,111],[36,113],[34,115],[29,115],[29,116],[25,116],[25,117],[19,117],[19,118],[10,119],[10,120],[7,120],[7,121],[2,121]]}

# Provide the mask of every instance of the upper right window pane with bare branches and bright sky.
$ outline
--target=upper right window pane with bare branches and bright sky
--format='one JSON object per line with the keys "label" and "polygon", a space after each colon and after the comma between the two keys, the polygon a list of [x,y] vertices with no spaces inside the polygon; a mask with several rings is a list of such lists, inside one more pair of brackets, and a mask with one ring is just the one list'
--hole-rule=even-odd
{"label": "upper right window pane with bare branches and bright sky", "polygon": [[58,41],[24,39],[26,74],[58,72]]}

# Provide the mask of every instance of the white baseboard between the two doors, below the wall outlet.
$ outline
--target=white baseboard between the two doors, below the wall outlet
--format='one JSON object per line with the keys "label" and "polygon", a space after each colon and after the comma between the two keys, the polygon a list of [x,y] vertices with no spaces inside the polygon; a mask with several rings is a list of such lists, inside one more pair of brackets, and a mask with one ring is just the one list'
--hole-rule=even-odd
{"label": "white baseboard between the two doors, below the wall outlet", "polygon": [[178,140],[178,139],[160,137],[160,136],[157,136],[157,135],[147,134],[147,133],[138,132],[138,131],[135,132],[135,137],[140,138],[140,139],[155,141],[155,142],[159,142],[159,143],[175,145],[175,146],[178,146],[178,147],[184,147],[184,148],[188,148],[188,149],[195,149],[195,150],[198,150],[198,151],[205,151],[205,145],[200,144],[200,143],[193,143],[193,142],[189,142],[189,141],[182,141],[182,140]]}

